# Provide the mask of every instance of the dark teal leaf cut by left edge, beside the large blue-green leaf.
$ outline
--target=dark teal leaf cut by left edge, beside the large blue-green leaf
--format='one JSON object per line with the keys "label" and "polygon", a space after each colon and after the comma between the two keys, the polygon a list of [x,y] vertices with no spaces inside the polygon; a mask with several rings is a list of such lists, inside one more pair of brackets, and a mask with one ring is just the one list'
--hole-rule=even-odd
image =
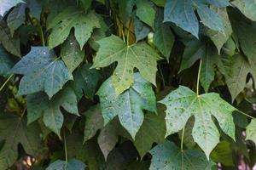
{"label": "dark teal leaf cut by left edge, beside the large blue-green leaf", "polygon": [[9,77],[11,69],[15,65],[15,59],[10,56],[0,45],[0,76]]}

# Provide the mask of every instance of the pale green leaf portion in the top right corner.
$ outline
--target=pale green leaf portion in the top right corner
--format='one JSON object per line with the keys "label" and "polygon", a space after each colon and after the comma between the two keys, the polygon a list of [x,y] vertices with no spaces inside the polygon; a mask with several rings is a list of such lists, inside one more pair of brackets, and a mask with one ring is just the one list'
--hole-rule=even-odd
{"label": "pale green leaf portion in the top right corner", "polygon": [[254,0],[235,0],[231,2],[248,19],[256,21],[256,2]]}

